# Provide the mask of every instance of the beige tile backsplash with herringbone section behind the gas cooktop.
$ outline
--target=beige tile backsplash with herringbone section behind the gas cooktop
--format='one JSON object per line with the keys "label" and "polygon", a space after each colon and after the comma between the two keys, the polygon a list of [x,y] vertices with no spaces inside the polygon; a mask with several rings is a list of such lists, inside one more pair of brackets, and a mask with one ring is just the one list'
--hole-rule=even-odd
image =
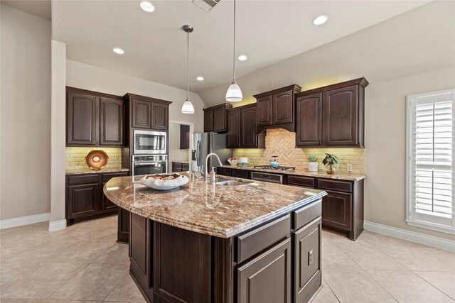
{"label": "beige tile backsplash with herringbone section behind the gas cooktop", "polygon": [[266,165],[272,155],[278,156],[280,165],[306,167],[310,155],[316,155],[321,162],[325,153],[340,158],[340,172],[346,172],[346,165],[353,165],[353,173],[365,174],[365,148],[296,148],[296,133],[282,128],[267,130],[265,148],[235,148],[234,157],[247,157],[250,165]]}

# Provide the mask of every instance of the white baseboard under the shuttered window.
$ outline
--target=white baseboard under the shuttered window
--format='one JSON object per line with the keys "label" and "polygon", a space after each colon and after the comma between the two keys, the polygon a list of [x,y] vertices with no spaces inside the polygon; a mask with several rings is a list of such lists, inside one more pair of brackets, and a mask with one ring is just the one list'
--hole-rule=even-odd
{"label": "white baseboard under the shuttered window", "polygon": [[444,238],[428,236],[423,233],[416,233],[414,231],[407,231],[405,229],[386,226],[368,221],[363,222],[363,228],[365,228],[365,230],[367,231],[374,231],[375,233],[382,233],[387,236],[402,238],[403,240],[455,252],[455,241],[447,240]]}

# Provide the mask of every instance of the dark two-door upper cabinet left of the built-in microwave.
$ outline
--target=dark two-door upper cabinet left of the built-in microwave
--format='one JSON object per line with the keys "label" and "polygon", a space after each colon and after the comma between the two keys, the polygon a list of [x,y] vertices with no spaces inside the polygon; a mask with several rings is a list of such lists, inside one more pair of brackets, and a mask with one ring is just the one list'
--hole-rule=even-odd
{"label": "dark two-door upper cabinet left of the built-in microwave", "polygon": [[66,145],[123,146],[122,97],[66,88]]}

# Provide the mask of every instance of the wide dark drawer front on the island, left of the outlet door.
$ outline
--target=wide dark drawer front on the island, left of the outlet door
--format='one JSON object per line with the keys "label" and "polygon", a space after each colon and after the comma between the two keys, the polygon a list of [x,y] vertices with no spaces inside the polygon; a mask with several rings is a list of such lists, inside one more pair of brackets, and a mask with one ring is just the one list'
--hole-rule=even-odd
{"label": "wide dark drawer front on the island, left of the outlet door", "polygon": [[235,238],[236,261],[242,263],[253,255],[289,236],[291,218],[289,215],[269,222]]}

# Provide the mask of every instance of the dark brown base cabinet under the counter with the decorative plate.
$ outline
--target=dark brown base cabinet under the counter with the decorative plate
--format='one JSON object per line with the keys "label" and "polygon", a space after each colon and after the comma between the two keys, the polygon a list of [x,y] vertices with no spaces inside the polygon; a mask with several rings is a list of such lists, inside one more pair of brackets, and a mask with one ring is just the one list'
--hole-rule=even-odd
{"label": "dark brown base cabinet under the counter with the decorative plate", "polygon": [[122,177],[128,172],[89,173],[66,176],[65,208],[67,225],[76,221],[113,214],[117,205],[102,193],[102,188],[113,177]]}

